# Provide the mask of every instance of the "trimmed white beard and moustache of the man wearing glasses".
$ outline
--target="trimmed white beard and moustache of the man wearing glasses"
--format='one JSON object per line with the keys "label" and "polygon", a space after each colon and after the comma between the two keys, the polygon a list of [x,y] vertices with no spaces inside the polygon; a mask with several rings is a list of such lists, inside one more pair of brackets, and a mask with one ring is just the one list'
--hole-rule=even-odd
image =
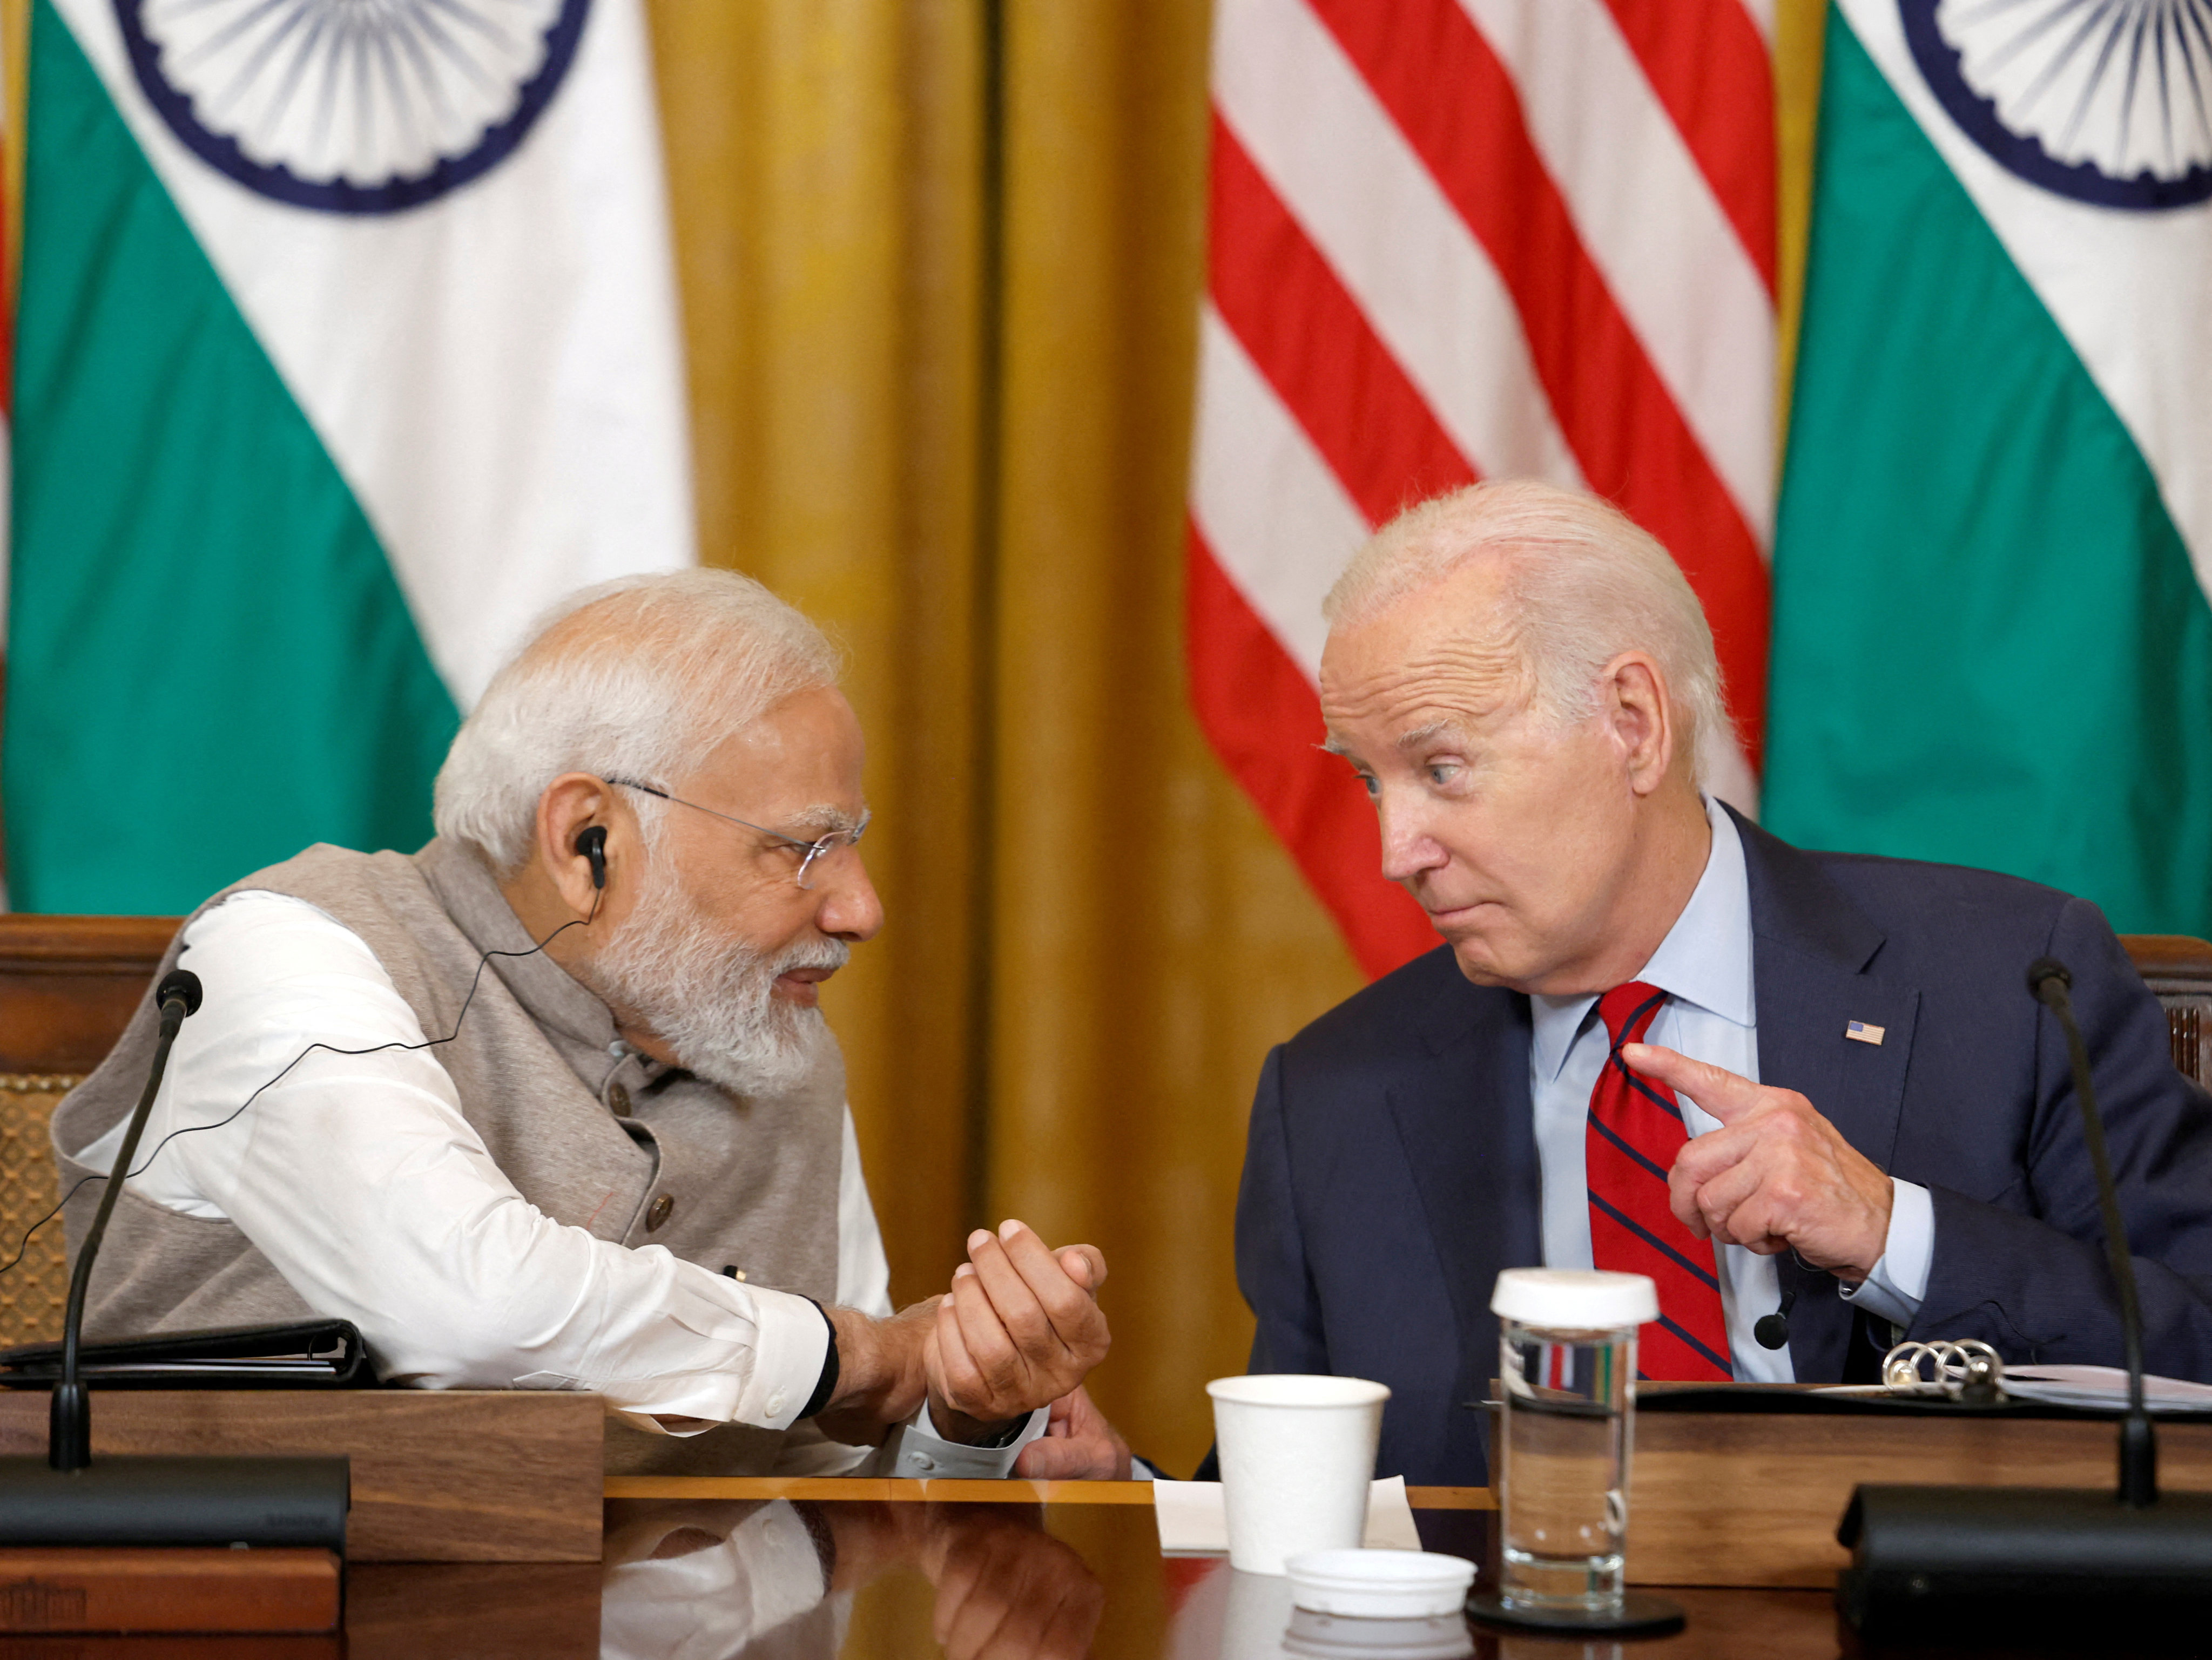
{"label": "trimmed white beard and moustache of the man wearing glasses", "polygon": [[599,1001],[653,1028],[688,1072],[730,1094],[799,1088],[830,1028],[818,1008],[774,997],[794,968],[843,968],[843,939],[812,939],[774,957],[719,937],[672,871],[648,866],[637,908],[577,966]]}

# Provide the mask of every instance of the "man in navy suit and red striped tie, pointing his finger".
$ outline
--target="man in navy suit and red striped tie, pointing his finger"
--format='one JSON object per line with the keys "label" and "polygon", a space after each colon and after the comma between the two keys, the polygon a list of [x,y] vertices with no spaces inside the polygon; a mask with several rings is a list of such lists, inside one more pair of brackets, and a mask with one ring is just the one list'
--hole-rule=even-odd
{"label": "man in navy suit and red striped tie, pointing his finger", "polygon": [[1708,800],[1705,617],[1590,497],[1422,504],[1327,612],[1329,747],[1447,944],[1267,1057],[1237,1205],[1254,1373],[1380,1379],[1378,1468],[1480,1483],[1509,1267],[1650,1273],[1650,1377],[1871,1377],[1900,1333],[2117,1364],[2066,1048],[2024,984],[2051,955],[2150,1366],[2212,1377],[2212,1099],[2093,904],[1803,853]]}

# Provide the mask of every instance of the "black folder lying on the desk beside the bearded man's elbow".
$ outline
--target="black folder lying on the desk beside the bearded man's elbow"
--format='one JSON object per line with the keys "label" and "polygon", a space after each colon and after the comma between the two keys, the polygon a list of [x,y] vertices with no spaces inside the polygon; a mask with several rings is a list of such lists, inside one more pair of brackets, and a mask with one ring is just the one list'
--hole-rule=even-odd
{"label": "black folder lying on the desk beside the bearded man's elbow", "polygon": [[[80,1346],[77,1373],[93,1388],[376,1388],[349,1320],[117,1337]],[[0,1388],[53,1388],[60,1377],[60,1344],[0,1348]]]}

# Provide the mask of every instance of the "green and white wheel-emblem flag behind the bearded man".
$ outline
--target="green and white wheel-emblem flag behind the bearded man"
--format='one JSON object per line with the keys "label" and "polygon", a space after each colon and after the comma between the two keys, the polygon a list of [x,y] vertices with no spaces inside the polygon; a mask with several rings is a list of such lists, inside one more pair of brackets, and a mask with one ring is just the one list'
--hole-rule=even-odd
{"label": "green and white wheel-emblem flag behind the bearded man", "polygon": [[695,557],[639,0],[33,0],[7,875],[416,847],[555,595]]}

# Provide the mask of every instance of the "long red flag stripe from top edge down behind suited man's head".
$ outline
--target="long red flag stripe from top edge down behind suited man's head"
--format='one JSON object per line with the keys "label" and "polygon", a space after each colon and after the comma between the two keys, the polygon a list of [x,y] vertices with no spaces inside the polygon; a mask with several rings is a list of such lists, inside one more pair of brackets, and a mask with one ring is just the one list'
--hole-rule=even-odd
{"label": "long red flag stripe from top edge down behind suited man's head", "polygon": [[[1590,488],[1657,535],[1705,601],[1739,740],[1756,765],[1765,561],[1582,248],[1504,64],[1453,0],[1407,0],[1389,11],[1360,0],[1316,7],[1504,276]],[[1458,95],[1436,97],[1440,82]]]}

